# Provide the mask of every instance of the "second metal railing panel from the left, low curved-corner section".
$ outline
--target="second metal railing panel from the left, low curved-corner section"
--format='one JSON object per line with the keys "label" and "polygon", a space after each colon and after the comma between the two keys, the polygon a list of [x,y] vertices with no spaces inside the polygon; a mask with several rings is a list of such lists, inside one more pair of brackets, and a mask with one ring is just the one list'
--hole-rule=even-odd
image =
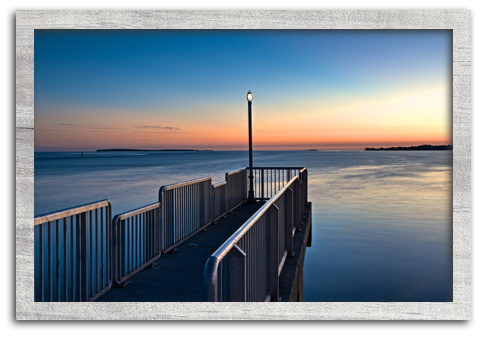
{"label": "second metal railing panel from the left, low curved-corner section", "polygon": [[122,285],[161,256],[161,218],[160,203],[113,218],[113,284]]}

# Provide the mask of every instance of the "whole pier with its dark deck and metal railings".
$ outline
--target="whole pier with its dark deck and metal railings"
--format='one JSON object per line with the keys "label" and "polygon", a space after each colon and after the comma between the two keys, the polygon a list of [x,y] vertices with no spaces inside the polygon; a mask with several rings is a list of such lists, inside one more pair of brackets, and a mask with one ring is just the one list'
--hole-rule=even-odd
{"label": "whole pier with its dark deck and metal railings", "polygon": [[251,169],[113,217],[108,200],[36,216],[35,301],[303,301],[307,169]]}

